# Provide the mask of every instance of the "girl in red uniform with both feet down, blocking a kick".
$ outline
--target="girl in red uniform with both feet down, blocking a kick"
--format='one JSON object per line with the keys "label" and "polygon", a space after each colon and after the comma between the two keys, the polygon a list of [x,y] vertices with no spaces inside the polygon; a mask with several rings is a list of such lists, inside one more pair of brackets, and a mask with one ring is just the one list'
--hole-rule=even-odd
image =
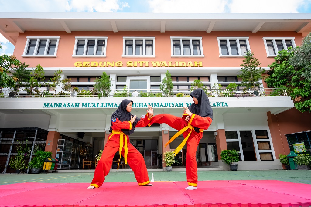
{"label": "girl in red uniform with both feet down, blocking a kick", "polygon": [[[128,135],[134,132],[135,127],[146,127],[153,116],[153,109],[148,105],[147,116],[137,118],[132,116],[133,101],[124,99],[118,109],[111,116],[111,132],[104,147],[103,154],[98,161],[94,172],[94,178],[87,189],[99,188],[102,186],[105,176],[108,175],[112,165],[112,159],[119,150],[124,157],[124,162],[134,171],[139,186],[153,186],[149,182],[146,163],[142,154],[130,144]],[[124,143],[124,144],[123,144]],[[120,163],[120,159],[118,165]]]}

